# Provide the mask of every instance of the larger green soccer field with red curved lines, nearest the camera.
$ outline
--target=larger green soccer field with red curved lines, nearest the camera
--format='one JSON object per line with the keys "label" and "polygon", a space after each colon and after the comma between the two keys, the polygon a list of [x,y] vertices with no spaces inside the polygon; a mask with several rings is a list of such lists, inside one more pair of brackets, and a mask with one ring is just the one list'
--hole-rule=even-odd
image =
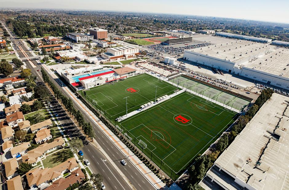
{"label": "larger green soccer field with red curved lines, nearest the camera", "polygon": [[148,158],[177,179],[235,120],[236,113],[184,92],[120,122]]}

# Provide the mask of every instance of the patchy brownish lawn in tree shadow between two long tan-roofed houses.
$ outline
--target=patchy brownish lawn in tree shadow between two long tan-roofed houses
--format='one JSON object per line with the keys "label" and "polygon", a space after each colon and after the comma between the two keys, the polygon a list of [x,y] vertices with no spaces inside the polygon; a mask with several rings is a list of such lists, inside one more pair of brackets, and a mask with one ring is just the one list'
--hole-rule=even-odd
{"label": "patchy brownish lawn in tree shadow between two long tan-roofed houses", "polygon": [[46,159],[42,160],[43,166],[45,168],[53,168],[62,162],[65,162],[67,159],[72,158],[73,153],[69,148],[58,151],[50,156],[47,156]]}

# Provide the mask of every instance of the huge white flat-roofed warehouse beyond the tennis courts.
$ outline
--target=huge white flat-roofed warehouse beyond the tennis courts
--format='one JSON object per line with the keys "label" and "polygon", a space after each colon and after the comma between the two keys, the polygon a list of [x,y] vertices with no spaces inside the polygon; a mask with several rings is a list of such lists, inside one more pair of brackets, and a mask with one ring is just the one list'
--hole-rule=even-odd
{"label": "huge white flat-roofed warehouse beyond the tennis courts", "polygon": [[236,40],[186,50],[184,59],[289,89],[289,49]]}

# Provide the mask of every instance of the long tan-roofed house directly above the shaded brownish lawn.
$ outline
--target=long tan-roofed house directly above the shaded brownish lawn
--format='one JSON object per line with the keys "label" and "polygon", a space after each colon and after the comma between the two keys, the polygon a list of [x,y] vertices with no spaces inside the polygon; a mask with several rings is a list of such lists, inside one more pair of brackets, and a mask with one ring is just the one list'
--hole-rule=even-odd
{"label": "long tan-roofed house directly above the shaded brownish lawn", "polygon": [[33,150],[30,150],[27,152],[27,154],[22,156],[22,161],[26,163],[32,164],[32,166],[37,165],[36,163],[40,161],[41,158],[43,158],[43,155],[49,152],[52,152],[53,150],[56,150],[59,147],[62,147],[65,145],[65,141],[62,137],[58,137],[54,139],[51,143],[43,143],[39,145],[37,148],[34,148]]}

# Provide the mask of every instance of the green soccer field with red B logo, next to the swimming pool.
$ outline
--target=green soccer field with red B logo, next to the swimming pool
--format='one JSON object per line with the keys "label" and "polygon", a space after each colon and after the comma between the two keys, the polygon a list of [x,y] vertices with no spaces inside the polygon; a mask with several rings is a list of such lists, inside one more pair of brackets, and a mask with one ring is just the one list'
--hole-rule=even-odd
{"label": "green soccer field with red B logo, next to the swimming pool", "polygon": [[87,90],[85,91],[85,98],[95,108],[104,112],[106,118],[113,121],[126,114],[125,97],[128,97],[129,113],[141,108],[141,105],[154,101],[155,97],[169,95],[174,91],[176,91],[175,86],[160,81],[151,75],[141,74],[113,84],[101,85]]}

